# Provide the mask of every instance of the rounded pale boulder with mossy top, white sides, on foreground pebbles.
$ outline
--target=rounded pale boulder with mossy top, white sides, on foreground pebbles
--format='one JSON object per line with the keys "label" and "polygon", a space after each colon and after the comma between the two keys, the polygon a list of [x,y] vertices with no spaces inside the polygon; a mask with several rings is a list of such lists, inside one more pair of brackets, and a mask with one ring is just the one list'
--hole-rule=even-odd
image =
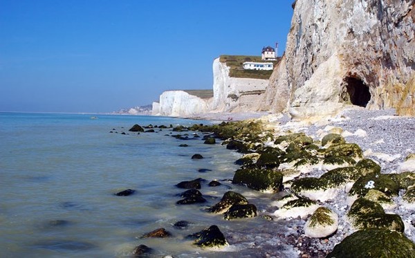
{"label": "rounded pale boulder with mossy top, white sides, on foreground pebbles", "polygon": [[307,237],[328,237],[333,234],[339,225],[338,214],[325,207],[315,210],[304,225],[304,234]]}

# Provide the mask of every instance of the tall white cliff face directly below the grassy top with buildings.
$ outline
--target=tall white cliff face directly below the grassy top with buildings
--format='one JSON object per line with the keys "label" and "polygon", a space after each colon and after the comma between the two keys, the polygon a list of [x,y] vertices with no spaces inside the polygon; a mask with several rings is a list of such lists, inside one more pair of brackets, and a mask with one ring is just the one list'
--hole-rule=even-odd
{"label": "tall white cliff face directly below the grassy top with buildings", "polygon": [[212,111],[256,111],[261,106],[269,80],[229,77],[229,67],[219,61],[213,62]]}

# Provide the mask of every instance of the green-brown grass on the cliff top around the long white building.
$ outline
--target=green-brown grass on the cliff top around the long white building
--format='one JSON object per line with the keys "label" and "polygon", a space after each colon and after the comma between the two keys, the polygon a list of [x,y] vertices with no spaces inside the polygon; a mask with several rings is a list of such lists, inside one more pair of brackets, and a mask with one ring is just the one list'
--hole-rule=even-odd
{"label": "green-brown grass on the cliff top around the long white building", "polygon": [[244,62],[273,62],[274,67],[278,64],[280,57],[277,57],[275,61],[263,61],[261,56],[256,55],[221,55],[219,61],[226,63],[230,68],[229,76],[237,78],[252,78],[252,79],[265,79],[268,80],[273,71],[261,71],[261,70],[245,70],[243,69]]}

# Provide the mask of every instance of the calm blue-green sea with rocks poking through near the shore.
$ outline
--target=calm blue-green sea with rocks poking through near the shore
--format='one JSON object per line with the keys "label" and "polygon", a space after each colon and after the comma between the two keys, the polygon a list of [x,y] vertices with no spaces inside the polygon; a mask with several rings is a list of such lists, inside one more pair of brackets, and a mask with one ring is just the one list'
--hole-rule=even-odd
{"label": "calm blue-green sea with rocks poking through near the shore", "polygon": [[[261,241],[257,230],[269,229],[269,222],[259,216],[225,221],[205,209],[229,190],[243,194],[259,210],[267,208],[269,195],[230,183],[241,154],[220,141],[205,145],[194,132],[186,132],[190,140],[180,140],[171,129],[129,131],[135,124],[196,123],[214,122],[0,113],[0,257],[131,257],[142,244],[152,249],[149,257],[239,257]],[[179,147],[183,144],[188,147]],[[194,160],[193,154],[204,158]],[[176,204],[185,192],[176,184],[196,178],[205,180],[200,191],[208,202]],[[209,187],[212,180],[221,185]],[[127,189],[136,192],[115,195]],[[176,228],[178,221],[189,225]],[[212,250],[194,245],[188,236],[210,225],[219,226],[230,246]],[[142,238],[158,228],[172,236]]]}

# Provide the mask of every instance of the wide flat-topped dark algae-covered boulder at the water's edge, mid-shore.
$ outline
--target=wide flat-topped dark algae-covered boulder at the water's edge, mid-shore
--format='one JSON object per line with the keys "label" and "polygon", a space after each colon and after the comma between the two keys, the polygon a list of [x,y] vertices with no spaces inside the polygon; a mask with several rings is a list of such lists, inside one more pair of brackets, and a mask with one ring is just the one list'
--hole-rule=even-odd
{"label": "wide flat-topped dark algae-covered boulder at the water's edge, mid-shore", "polygon": [[282,174],[271,169],[238,169],[232,182],[261,192],[279,192],[282,189]]}

